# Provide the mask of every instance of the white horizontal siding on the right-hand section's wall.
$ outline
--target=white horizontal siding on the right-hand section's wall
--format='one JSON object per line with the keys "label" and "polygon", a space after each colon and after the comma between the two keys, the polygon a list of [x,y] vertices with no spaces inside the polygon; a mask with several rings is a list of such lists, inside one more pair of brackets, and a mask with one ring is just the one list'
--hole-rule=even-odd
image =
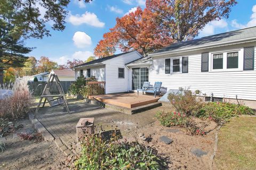
{"label": "white horizontal siding on the right-hand section's wall", "polygon": [[[256,55],[256,48],[254,56]],[[170,56],[153,57],[153,65],[149,69],[149,81],[163,82],[169,89],[190,88],[200,90],[202,94],[221,98],[256,100],[256,60],[253,71],[201,72],[201,53],[188,56],[188,73],[165,74],[165,59]],[[174,57],[174,56],[173,56]]]}

